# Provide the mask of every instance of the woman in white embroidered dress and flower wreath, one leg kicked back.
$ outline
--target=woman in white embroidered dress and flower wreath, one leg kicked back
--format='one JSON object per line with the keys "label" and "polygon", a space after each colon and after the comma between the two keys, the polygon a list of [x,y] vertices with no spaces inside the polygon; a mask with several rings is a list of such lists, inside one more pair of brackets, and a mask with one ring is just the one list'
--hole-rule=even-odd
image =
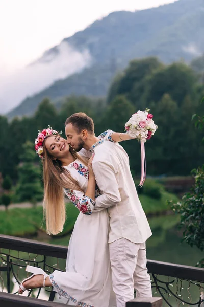
{"label": "woman in white embroidered dress and flower wreath, one leg kicked back", "polygon": [[[107,130],[98,138],[118,142],[122,134]],[[125,138],[127,139],[127,138]],[[100,191],[91,167],[92,158],[85,149],[75,152],[52,128],[39,132],[35,150],[43,162],[46,231],[63,230],[66,213],[64,192],[80,214],[70,238],[66,272],[55,270],[47,275],[42,269],[27,266],[33,273],[24,279],[19,294],[25,290],[53,286],[66,303],[84,307],[114,307],[108,247],[109,216],[107,210],[95,212],[95,198]]]}

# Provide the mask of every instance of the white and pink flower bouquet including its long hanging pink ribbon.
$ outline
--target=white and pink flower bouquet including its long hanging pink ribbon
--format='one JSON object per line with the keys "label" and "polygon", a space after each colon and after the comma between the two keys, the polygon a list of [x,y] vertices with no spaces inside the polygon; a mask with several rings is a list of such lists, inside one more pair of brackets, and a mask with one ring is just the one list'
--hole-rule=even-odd
{"label": "white and pink flower bouquet including its long hanging pink ribbon", "polygon": [[144,143],[149,140],[157,130],[158,126],[152,120],[153,115],[148,113],[149,109],[138,111],[125,124],[125,130],[130,137],[137,139],[141,144],[141,180],[139,186],[142,187],[146,178],[146,159]]}

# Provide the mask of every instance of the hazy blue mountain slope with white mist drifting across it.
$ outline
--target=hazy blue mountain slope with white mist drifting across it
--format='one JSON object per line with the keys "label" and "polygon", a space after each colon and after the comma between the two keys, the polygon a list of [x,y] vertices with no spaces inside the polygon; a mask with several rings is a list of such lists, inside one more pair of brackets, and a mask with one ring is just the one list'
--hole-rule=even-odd
{"label": "hazy blue mountain slope with white mist drifting across it", "polygon": [[7,114],[11,118],[33,114],[44,97],[56,102],[71,94],[105,96],[113,76],[131,59],[189,63],[201,56],[203,28],[204,0],[113,12],[46,51],[10,81],[12,91],[11,86],[4,87],[4,95],[0,91],[0,101],[8,106],[12,99],[22,101]]}

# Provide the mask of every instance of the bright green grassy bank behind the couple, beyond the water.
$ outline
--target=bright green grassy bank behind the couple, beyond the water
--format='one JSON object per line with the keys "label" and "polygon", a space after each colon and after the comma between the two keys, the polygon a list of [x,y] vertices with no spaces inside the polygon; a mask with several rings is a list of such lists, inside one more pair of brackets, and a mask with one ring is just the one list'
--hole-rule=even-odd
{"label": "bright green grassy bank behind the couple, beyond the water", "polygon": [[[166,204],[167,199],[177,201],[177,197],[173,194],[163,191],[160,200],[150,198],[147,195],[139,195],[142,207],[146,214],[162,212],[169,210],[169,205]],[[59,234],[68,233],[73,229],[75,220],[79,211],[71,204],[66,205],[66,223],[64,230]],[[0,233],[25,236],[35,234],[39,228],[45,230],[45,223],[43,223],[42,207],[37,208],[12,208],[8,211],[0,211]],[[58,237],[55,236],[55,237]]]}

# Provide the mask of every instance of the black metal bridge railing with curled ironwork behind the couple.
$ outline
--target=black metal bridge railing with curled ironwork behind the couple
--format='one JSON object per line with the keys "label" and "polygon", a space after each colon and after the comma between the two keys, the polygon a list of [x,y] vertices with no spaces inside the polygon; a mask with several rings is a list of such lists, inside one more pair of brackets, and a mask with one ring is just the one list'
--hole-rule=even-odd
{"label": "black metal bridge railing with curled ironwork behind the couple", "polygon": [[[67,247],[0,235],[0,287],[3,292],[17,293],[20,281],[26,277],[29,264],[52,273],[64,271]],[[204,288],[204,269],[147,261],[152,293],[163,298],[165,305],[200,305]],[[53,301],[52,287],[28,292],[28,296]]]}

